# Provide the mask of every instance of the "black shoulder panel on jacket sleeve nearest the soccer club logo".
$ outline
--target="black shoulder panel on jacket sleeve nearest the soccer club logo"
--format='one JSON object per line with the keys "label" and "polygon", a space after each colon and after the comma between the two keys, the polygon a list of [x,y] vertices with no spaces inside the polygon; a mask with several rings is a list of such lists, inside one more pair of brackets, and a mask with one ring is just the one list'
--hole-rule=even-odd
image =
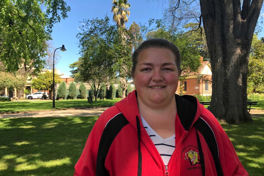
{"label": "black shoulder panel on jacket sleeve nearest the soccer club logo", "polygon": [[222,176],[223,171],[219,161],[217,142],[212,129],[202,118],[198,118],[194,126],[202,134],[202,136],[206,140],[210,152],[212,153],[214,164],[217,171],[217,176]]}

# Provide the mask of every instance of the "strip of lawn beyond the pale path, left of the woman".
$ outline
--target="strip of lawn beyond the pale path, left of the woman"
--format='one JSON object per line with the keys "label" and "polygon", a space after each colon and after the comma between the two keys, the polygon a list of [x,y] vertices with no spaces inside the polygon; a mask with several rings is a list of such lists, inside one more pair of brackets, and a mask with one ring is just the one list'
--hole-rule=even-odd
{"label": "strip of lawn beyond the pale path, left of the woman", "polygon": [[[56,100],[55,109],[81,108],[81,107],[99,107],[113,106],[121,99],[105,99],[104,101],[93,101],[92,105],[87,99],[68,99]],[[0,102],[0,113],[4,112],[24,112],[35,110],[52,110],[52,100],[22,100]]]}

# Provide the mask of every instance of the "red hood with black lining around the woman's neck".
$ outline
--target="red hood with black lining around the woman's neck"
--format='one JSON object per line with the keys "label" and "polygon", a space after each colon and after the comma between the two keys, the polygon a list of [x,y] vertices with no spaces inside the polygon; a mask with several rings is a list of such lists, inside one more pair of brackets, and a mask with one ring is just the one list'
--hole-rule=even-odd
{"label": "red hood with black lining around the woman's neck", "polygon": [[[125,116],[128,122],[137,129],[136,116],[140,117],[137,103],[137,91],[130,92],[127,97],[117,103],[115,106]],[[177,114],[185,130],[189,130],[194,122],[202,114],[204,106],[198,102],[198,99],[191,95],[179,96],[175,94],[177,104]],[[143,128],[141,126],[140,128]]]}

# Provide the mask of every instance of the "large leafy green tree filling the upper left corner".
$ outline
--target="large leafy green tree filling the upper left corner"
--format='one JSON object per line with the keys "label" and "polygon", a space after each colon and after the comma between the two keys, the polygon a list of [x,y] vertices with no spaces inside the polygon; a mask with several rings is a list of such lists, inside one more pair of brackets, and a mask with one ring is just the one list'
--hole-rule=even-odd
{"label": "large leafy green tree filling the upper left corner", "polygon": [[0,61],[5,70],[14,73],[30,66],[34,74],[40,72],[53,24],[65,19],[70,7],[63,0],[3,0],[0,9],[5,9],[0,12]]}

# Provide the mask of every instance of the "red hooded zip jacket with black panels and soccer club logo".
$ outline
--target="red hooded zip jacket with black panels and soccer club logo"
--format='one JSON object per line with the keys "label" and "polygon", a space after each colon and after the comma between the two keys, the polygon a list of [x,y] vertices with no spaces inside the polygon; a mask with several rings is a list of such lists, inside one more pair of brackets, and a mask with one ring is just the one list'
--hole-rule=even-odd
{"label": "red hooded zip jacket with black panels and soccer club logo", "polygon": [[131,92],[98,118],[74,176],[248,176],[217,119],[190,95],[175,95],[175,150],[165,166],[136,96]]}

